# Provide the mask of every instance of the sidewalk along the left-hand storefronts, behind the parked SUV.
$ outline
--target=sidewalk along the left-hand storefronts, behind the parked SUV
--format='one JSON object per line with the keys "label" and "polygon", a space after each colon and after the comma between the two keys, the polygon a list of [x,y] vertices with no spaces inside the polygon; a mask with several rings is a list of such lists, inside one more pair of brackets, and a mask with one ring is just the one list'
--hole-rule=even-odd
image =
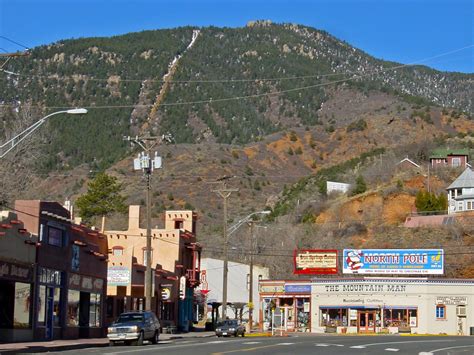
{"label": "sidewalk along the left-hand storefronts, behind the parked SUV", "polygon": [[[215,336],[214,332],[202,331],[181,334],[160,334],[160,341],[183,338],[206,338],[212,336]],[[109,346],[109,340],[107,338],[36,341],[28,343],[0,344],[0,354],[63,351],[104,346]]]}

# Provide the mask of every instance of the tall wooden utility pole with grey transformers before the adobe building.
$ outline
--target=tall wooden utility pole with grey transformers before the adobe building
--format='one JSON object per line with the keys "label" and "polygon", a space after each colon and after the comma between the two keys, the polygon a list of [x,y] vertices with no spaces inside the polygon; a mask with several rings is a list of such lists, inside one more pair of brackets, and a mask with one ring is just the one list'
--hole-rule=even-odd
{"label": "tall wooden utility pole with grey transformers before the adobe building", "polygon": [[133,169],[142,170],[146,178],[146,271],[145,271],[145,309],[151,310],[151,300],[153,298],[153,275],[151,272],[151,174],[155,169],[161,169],[161,157],[155,152],[154,158],[151,158],[149,152],[158,143],[171,141],[170,135],[161,137],[124,137],[124,140],[132,144],[138,144],[143,151],[138,157],[133,159]]}

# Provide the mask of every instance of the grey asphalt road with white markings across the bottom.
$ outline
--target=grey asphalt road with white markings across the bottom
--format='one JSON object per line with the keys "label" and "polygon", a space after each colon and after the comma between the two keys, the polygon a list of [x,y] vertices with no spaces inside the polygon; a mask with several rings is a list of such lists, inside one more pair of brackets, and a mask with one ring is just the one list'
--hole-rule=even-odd
{"label": "grey asphalt road with white markings across the bottom", "polygon": [[114,346],[63,351],[71,354],[174,354],[174,355],[293,355],[293,354],[416,354],[472,355],[474,337],[449,336],[317,336],[199,338],[162,341],[141,347]]}

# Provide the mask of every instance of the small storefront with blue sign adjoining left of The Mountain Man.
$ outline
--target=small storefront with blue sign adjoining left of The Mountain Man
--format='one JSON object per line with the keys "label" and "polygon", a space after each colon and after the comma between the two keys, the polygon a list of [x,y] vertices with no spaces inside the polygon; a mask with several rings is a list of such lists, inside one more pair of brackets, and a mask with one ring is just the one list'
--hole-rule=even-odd
{"label": "small storefront with blue sign adjoining left of The Mountain Man", "polygon": [[[262,280],[259,282],[259,324],[263,331],[311,331],[311,282]],[[275,321],[275,312],[279,314]]]}

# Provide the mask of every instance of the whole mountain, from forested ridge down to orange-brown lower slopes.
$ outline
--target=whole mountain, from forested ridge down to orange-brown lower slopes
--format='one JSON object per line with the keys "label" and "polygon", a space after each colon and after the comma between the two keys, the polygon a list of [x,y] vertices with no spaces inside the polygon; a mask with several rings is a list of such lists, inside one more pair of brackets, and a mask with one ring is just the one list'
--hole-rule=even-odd
{"label": "whole mountain, from forested ridge down to orange-brown lower slopes", "polygon": [[[144,205],[145,181],[131,165],[140,150],[123,136],[169,132],[174,143],[156,146],[163,169],[152,178],[153,223],[165,209],[196,209],[201,242],[220,255],[222,200],[213,191],[218,178],[233,176],[228,184],[239,191],[229,199],[228,222],[272,208],[259,258],[275,270],[295,247],[422,245],[423,231],[397,235],[423,185],[410,185],[416,172],[400,174],[396,163],[408,155],[426,166],[434,147],[474,146],[473,74],[378,60],[299,25],[65,40],[5,69],[16,74],[0,73],[1,136],[64,107],[89,113],[51,117],[0,161],[0,200],[74,200],[107,169],[124,183],[128,202]],[[325,195],[326,180],[354,183],[359,175],[377,201],[393,206],[384,218],[357,207],[365,195]],[[443,178],[448,184],[453,176]],[[345,211],[352,217],[340,218]],[[108,223],[118,229],[125,220]],[[245,233],[232,239],[239,260],[248,252]],[[432,234],[424,246],[452,238],[447,230]],[[461,245],[472,243],[466,238]]]}

